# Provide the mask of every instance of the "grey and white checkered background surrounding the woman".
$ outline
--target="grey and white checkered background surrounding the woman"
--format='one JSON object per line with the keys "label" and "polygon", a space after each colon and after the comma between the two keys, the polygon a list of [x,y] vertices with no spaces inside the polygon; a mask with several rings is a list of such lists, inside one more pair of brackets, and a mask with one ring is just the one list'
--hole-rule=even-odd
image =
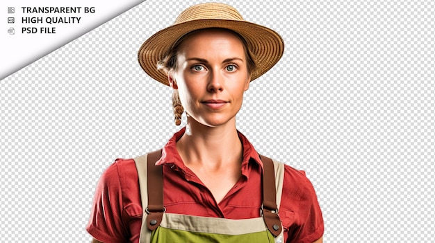
{"label": "grey and white checkered background surrounding the woman", "polygon": [[[138,48],[199,2],[145,1],[1,80],[0,242],[90,240],[101,172],[177,131],[171,91],[140,69]],[[238,129],[306,170],[325,242],[431,241],[434,1],[227,3],[284,37]]]}

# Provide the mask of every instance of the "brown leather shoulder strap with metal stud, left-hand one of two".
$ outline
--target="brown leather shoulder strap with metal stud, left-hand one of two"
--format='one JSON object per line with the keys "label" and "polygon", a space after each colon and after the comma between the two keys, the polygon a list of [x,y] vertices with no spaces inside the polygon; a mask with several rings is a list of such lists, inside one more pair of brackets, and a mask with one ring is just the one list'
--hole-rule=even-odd
{"label": "brown leather shoulder strap with metal stud, left-hand one of two", "polygon": [[[165,207],[163,206],[163,168],[156,165],[161,158],[162,150],[148,154],[147,180],[148,180],[148,206],[147,227],[154,231],[162,222]],[[151,197],[150,197],[151,196]]]}

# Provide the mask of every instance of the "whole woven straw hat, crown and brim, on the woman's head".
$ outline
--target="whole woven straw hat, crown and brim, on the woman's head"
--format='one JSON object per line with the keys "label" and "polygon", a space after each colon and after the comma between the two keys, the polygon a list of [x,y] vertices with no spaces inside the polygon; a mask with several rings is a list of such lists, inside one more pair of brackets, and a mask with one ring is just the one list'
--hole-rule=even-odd
{"label": "whole woven straw hat, crown and brim, on the woman's head", "polygon": [[181,12],[172,26],[158,31],[142,44],[138,54],[140,66],[151,78],[169,86],[167,74],[157,69],[157,63],[179,38],[203,28],[227,28],[245,38],[257,62],[251,81],[271,69],[284,52],[284,41],[274,30],[245,21],[227,4],[200,3]]}

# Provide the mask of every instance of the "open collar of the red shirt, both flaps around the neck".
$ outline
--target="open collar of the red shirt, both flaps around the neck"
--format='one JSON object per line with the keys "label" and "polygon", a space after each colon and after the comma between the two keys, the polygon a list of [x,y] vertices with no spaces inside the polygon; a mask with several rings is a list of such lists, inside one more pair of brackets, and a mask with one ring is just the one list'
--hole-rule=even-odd
{"label": "open collar of the red shirt, both flaps around the neck", "polygon": [[[177,151],[177,141],[181,138],[181,136],[183,136],[185,131],[186,127],[181,128],[179,132],[176,132],[174,136],[167,141],[165,147],[163,147],[161,159],[156,162],[156,165],[173,164],[177,165],[182,170],[186,169],[186,165],[184,165],[183,160]],[[263,163],[261,162],[260,156],[258,156],[258,153],[254,149],[254,146],[249,143],[247,138],[241,132],[237,131],[237,134],[243,146],[242,170],[247,168],[249,161],[257,163],[260,168],[263,169]]]}

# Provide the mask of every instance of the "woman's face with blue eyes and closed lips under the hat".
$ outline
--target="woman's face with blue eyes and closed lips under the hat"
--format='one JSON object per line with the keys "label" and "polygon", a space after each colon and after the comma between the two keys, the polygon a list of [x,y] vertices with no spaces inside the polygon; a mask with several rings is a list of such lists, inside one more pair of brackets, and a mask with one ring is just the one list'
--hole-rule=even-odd
{"label": "woman's face with blue eyes and closed lips under the hat", "polygon": [[235,124],[250,75],[243,43],[231,32],[200,30],[183,40],[170,84],[181,104],[202,125]]}

